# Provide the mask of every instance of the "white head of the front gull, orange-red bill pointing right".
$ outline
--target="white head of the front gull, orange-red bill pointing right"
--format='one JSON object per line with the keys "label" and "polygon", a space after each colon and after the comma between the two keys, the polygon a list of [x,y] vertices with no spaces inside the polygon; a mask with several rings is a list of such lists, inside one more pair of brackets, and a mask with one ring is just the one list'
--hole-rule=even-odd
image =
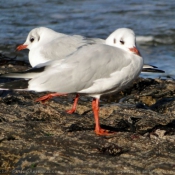
{"label": "white head of the front gull, orange-red bill pointing right", "polygon": [[118,47],[125,51],[133,52],[140,56],[140,52],[136,48],[135,33],[128,28],[119,28],[115,30],[106,39],[106,44],[114,47]]}

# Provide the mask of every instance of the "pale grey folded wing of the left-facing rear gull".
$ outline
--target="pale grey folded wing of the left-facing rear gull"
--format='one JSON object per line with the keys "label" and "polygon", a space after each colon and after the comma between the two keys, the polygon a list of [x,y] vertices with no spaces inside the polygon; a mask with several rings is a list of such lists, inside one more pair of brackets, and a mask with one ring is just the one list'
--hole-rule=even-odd
{"label": "pale grey folded wing of the left-facing rear gull", "polygon": [[41,54],[46,60],[63,59],[77,51],[84,45],[103,43],[104,40],[97,38],[85,38],[80,35],[65,35],[52,40],[41,48]]}

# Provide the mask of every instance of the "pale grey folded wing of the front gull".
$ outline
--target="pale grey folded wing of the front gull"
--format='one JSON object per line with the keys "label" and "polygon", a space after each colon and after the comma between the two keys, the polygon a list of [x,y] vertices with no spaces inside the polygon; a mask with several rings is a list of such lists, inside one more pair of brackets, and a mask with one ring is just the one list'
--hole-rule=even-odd
{"label": "pale grey folded wing of the front gull", "polygon": [[57,60],[47,63],[45,71],[29,81],[29,90],[75,93],[130,63],[128,53],[121,49],[101,44],[84,46],[61,64]]}

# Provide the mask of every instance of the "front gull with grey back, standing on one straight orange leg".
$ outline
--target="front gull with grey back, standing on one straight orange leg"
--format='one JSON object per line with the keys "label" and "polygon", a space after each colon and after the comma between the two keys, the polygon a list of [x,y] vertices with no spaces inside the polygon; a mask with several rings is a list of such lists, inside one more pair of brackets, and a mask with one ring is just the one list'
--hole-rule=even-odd
{"label": "front gull with grey back, standing on one straight orange leg", "polygon": [[[108,135],[109,131],[100,127],[100,96],[123,90],[138,77],[143,67],[143,58],[136,48],[134,32],[126,28],[118,29],[118,32],[112,41],[119,43],[120,48],[104,44],[84,46],[66,59],[43,63],[38,68],[18,74],[24,78],[23,83],[4,83],[0,89],[91,96],[95,133]],[[4,75],[10,76],[12,74]],[[25,79],[29,76],[30,80]]]}

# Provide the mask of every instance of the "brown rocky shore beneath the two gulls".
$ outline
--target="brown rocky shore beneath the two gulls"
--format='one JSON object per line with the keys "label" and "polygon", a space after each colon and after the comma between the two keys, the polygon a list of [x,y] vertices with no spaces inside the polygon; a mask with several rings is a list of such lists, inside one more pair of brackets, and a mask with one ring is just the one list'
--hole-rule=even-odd
{"label": "brown rocky shore beneath the two gulls", "polygon": [[[28,65],[5,62],[0,73]],[[1,80],[3,82],[5,80]],[[91,98],[72,95],[42,104],[45,93],[1,92],[0,174],[175,174],[175,81],[138,78],[101,99],[94,133]]]}

